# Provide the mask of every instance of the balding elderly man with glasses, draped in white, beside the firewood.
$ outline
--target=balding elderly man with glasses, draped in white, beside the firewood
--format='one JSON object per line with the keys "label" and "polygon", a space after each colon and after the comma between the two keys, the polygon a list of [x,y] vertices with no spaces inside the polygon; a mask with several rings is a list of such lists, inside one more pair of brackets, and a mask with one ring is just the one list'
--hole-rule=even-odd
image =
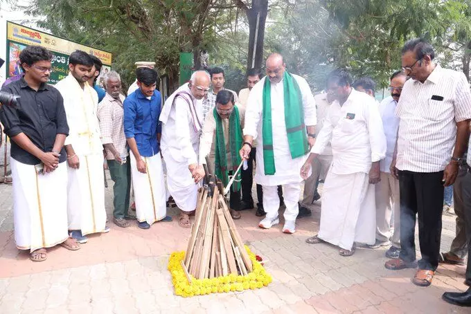
{"label": "balding elderly man with glasses, draped in white, beside the firewood", "polygon": [[192,172],[198,165],[199,136],[202,130],[202,99],[209,91],[211,78],[196,71],[188,84],[180,86],[163,105],[161,149],[167,167],[168,191],[181,210],[179,225],[190,228],[194,214],[197,184]]}

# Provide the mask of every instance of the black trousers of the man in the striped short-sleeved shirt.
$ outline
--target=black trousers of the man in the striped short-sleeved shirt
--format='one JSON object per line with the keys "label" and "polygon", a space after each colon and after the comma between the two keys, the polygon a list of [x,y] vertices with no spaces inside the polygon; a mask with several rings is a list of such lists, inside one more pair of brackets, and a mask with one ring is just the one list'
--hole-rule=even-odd
{"label": "black trousers of the man in the striped short-sleeved shirt", "polygon": [[414,241],[416,215],[418,216],[418,238],[422,259],[418,268],[436,270],[443,210],[443,171],[399,173],[400,187],[400,259],[416,260]]}

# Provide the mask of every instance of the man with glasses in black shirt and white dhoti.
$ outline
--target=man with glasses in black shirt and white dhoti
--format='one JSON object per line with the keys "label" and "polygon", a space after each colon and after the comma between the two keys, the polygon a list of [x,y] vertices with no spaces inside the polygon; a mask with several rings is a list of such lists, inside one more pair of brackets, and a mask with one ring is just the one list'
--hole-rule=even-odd
{"label": "man with glasses in black shirt and white dhoti", "polygon": [[15,242],[44,261],[46,248],[80,245],[67,233],[67,170],[64,140],[69,133],[62,96],[46,84],[52,54],[28,46],[19,55],[24,77],[2,91],[21,98],[17,107],[2,106],[0,121],[11,138]]}

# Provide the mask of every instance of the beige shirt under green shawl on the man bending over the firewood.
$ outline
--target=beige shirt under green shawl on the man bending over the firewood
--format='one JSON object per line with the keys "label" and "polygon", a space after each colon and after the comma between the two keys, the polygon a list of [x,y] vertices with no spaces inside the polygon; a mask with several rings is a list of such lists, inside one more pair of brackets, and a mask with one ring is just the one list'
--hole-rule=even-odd
{"label": "beige shirt under green shawl on the man bending over the firewood", "polygon": [[[236,102],[236,106],[238,103]],[[240,129],[244,129],[245,109],[238,106]],[[224,133],[224,142],[226,143],[227,165],[232,165],[231,147],[229,146],[229,119],[222,119],[222,131]],[[215,142],[216,142],[216,120],[213,111],[208,113],[203,124],[203,133],[199,142],[199,164],[206,164],[206,156],[209,156],[211,163],[215,160]]]}

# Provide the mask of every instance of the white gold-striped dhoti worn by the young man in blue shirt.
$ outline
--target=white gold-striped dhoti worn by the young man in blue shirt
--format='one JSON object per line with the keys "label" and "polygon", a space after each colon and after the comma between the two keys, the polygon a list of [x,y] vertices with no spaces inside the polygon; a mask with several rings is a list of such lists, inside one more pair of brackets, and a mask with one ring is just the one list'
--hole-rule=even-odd
{"label": "white gold-striped dhoti worn by the young man in blue shirt", "polygon": [[137,170],[136,158],[131,156],[131,176],[136,202],[137,221],[148,224],[166,217],[166,188],[163,180],[162,160],[160,154],[152,157],[142,157],[146,174]]}

